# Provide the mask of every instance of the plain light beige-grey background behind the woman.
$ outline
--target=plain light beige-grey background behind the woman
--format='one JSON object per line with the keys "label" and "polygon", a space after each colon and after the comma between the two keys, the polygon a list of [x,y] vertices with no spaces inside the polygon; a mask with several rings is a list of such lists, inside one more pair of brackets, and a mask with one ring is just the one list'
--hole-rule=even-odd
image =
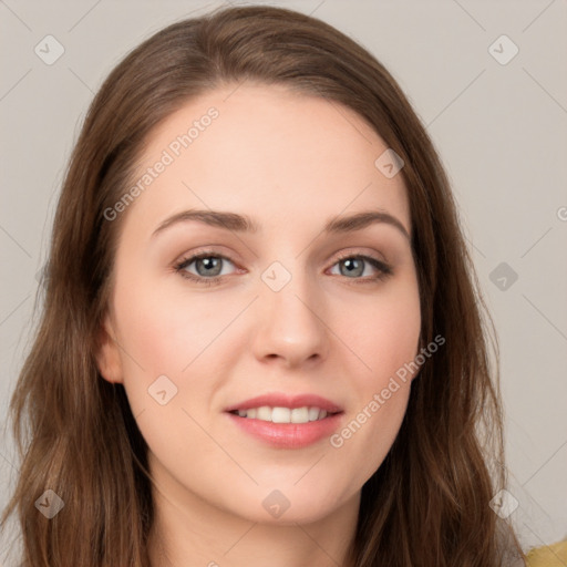
{"label": "plain light beige-grey background behind the woman", "polygon": [[[0,1],[2,424],[29,347],[56,195],[93,93],[132,47],[219,3]],[[567,536],[567,2],[269,3],[312,13],[361,42],[427,124],[499,333],[508,491],[519,503],[511,517],[526,547]],[[48,34],[65,50],[52,65],[34,53]],[[502,34],[519,49],[507,64],[488,51]],[[512,45],[501,44],[503,58]],[[502,262],[517,274],[506,289],[493,271]],[[2,437],[1,486],[12,486],[17,472]],[[2,563],[14,565],[6,536]]]}

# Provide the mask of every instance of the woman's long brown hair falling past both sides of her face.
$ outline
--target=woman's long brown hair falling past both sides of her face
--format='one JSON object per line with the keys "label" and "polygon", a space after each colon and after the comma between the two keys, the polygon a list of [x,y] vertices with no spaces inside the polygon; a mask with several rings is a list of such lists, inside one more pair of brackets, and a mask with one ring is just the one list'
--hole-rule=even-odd
{"label": "woman's long brown hair falling past both sides of her face", "polygon": [[[488,505],[505,483],[488,351],[497,361],[497,341],[487,340],[494,326],[440,158],[367,50],[322,21],[272,7],[216,10],[163,29],[94,97],[59,200],[41,322],[10,404],[21,470],[2,525],[18,512],[25,566],[150,566],[147,445],[122,384],[103,380],[94,358],[124,217],[110,223],[104,210],[133,183],[158,123],[199,94],[247,80],[354,110],[403,158],[422,343],[446,340],[421,368],[399,435],[362,487],[352,564],[503,565]],[[47,489],[64,502],[49,520],[34,505]]]}

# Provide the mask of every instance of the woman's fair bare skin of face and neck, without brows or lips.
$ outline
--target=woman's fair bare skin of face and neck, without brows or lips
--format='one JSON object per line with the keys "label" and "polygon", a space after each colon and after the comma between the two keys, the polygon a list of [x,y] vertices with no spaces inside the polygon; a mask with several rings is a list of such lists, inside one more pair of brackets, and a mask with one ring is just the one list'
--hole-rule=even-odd
{"label": "woman's fair bare skin of face and neck, without brows or lips", "polygon": [[[385,223],[322,234],[333,216],[375,209],[411,234],[406,188],[401,175],[386,178],[374,166],[388,146],[358,114],[251,83],[219,87],[168,116],[152,133],[141,173],[210,106],[219,116],[117,219],[97,353],[102,377],[124,384],[150,447],[153,565],[346,565],[362,485],[398,434],[411,380],[340,447],[328,437],[274,447],[224,410],[267,392],[316,393],[344,410],[340,431],[415,358],[421,315],[410,240]],[[246,214],[261,229],[185,221],[152,237],[190,208]],[[175,271],[208,246],[228,258],[220,285]],[[364,262],[350,275],[339,252],[374,256],[393,272],[372,279],[380,271]],[[261,279],[275,261],[291,276],[277,292]],[[196,262],[185,271],[209,277]],[[165,405],[148,394],[159,375],[177,388]],[[290,503],[278,518],[262,506],[275,489]]]}

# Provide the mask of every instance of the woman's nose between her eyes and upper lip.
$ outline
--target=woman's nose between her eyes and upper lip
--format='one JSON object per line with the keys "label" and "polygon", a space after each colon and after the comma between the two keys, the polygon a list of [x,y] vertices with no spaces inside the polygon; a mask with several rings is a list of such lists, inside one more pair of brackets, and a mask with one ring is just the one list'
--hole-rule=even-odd
{"label": "woman's nose between her eyes and upper lip", "polygon": [[252,344],[258,360],[292,369],[327,358],[330,321],[316,282],[308,278],[293,275],[279,291],[261,290]]}

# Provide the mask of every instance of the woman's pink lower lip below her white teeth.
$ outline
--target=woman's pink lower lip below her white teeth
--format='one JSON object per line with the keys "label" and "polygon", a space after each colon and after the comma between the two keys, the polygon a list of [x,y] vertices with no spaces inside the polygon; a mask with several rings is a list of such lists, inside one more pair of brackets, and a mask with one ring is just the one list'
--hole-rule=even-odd
{"label": "woman's pink lower lip below her white teeth", "polygon": [[322,420],[308,423],[272,423],[271,421],[240,417],[234,413],[227,415],[246,433],[282,449],[300,449],[332,435],[339,427],[342,413],[328,415]]}

